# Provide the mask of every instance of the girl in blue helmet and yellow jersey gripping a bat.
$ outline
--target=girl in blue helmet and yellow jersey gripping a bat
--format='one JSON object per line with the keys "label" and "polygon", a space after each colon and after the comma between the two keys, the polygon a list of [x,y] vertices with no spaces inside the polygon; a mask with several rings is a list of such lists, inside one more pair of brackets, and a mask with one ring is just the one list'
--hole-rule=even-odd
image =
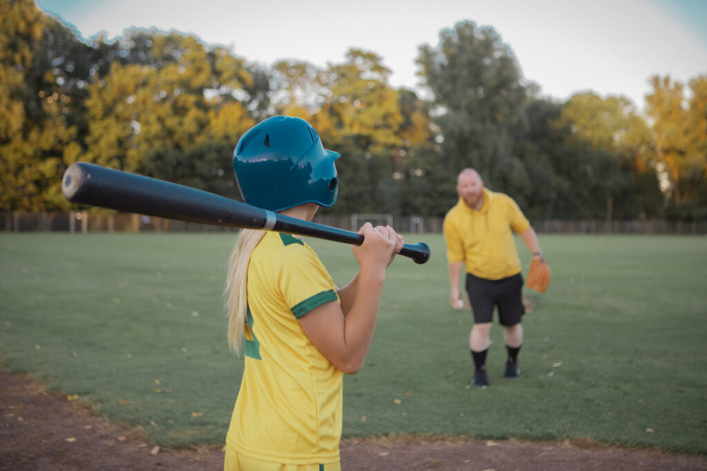
{"label": "girl in blue helmet and yellow jersey gripping a bat", "polygon": [[[337,198],[338,157],[307,121],[272,117],[240,138],[233,167],[246,203],[311,220]],[[392,227],[367,222],[359,233],[358,275],[338,288],[298,237],[241,231],[226,292],[228,343],[245,346],[245,370],[225,470],[340,470],[343,374],[363,366],[385,270],[403,246]]]}

